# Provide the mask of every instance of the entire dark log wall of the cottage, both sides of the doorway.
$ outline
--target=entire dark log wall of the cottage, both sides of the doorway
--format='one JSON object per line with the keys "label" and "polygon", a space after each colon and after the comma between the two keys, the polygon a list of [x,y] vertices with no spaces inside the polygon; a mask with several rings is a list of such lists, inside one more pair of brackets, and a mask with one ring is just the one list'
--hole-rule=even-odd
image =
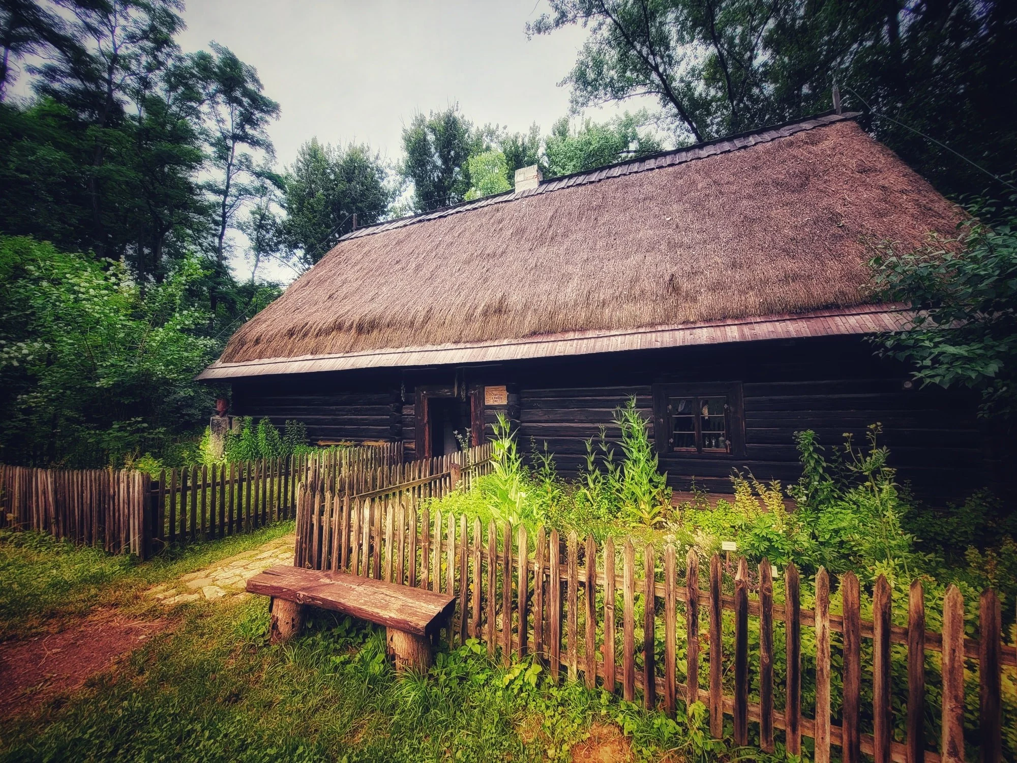
{"label": "entire dark log wall of the cottage, both sides of the doorway", "polygon": [[[1000,480],[986,467],[990,437],[974,415],[975,402],[942,390],[906,389],[906,369],[874,356],[860,338],[751,342],[640,353],[516,361],[484,367],[304,374],[237,383],[233,411],[307,423],[312,441],[400,439],[412,457],[418,386],[504,385],[508,404],[485,407],[485,431],[497,411],[519,427],[524,453],[547,444],[559,470],[584,463],[585,441],[601,426],[616,439],[614,410],[630,396],[651,420],[654,386],[738,383],[744,448],[737,456],[662,452],[661,468],[678,489],[693,477],[729,491],[733,468],[787,483],[798,477],[795,431],[815,429],[828,450],[851,432],[864,445],[880,422],[880,444],[891,450],[900,478],[918,492],[956,496]],[[615,447],[615,458],[620,458]]]}

